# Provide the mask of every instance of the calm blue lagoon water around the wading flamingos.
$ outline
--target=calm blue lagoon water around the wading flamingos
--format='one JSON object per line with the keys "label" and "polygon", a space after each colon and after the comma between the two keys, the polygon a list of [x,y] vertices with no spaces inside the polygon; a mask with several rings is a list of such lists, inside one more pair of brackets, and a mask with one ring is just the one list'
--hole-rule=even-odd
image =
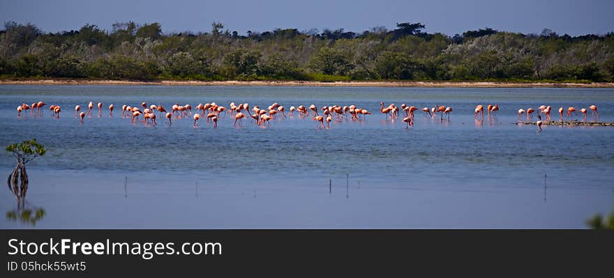
{"label": "calm blue lagoon water around the wading flamingos", "polygon": [[[17,105],[39,100],[43,116],[17,118]],[[95,107],[81,125],[74,107],[90,101],[103,112]],[[121,116],[123,104],[233,101],[286,111],[354,104],[373,115],[327,130],[297,115],[267,128],[248,119],[234,128],[229,115],[215,129],[204,119],[169,127],[158,116],[153,127]],[[380,102],[454,111],[443,122],[416,111],[406,130],[384,120]],[[474,121],[475,105],[489,103],[500,105],[497,116]],[[36,137],[48,148],[28,167],[27,207],[45,216],[0,227],[584,228],[614,208],[614,128],[537,133],[516,125],[516,111],[593,104],[600,121],[614,122],[614,89],[0,86],[0,145]],[[61,105],[59,119],[48,105]],[[14,163],[1,155],[0,172]],[[0,191],[3,209],[15,210]]]}

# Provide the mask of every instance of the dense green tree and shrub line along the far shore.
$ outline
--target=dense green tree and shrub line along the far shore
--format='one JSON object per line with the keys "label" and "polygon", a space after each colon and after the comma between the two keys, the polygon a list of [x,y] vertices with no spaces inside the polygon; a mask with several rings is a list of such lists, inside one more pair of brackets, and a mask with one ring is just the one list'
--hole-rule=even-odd
{"label": "dense green tree and shrub line along the far shore", "polygon": [[362,33],[275,29],[246,36],[214,22],[210,33],[162,32],[158,23],[86,24],[46,33],[6,22],[0,78],[115,80],[614,81],[614,33],[560,36],[490,28],[455,36],[399,23]]}

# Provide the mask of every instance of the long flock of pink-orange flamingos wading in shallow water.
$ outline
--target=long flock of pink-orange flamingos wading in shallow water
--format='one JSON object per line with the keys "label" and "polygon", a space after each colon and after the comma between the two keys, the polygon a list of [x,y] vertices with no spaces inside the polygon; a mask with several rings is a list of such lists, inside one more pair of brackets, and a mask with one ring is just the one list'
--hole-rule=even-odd
{"label": "long flock of pink-orange flamingos wading in shallow water", "polygon": [[[45,102],[34,102],[32,103],[32,105],[27,105],[23,103],[22,105],[17,106],[17,117],[21,117],[22,113],[24,114],[27,113],[27,110],[31,110],[31,114],[34,115],[35,114],[34,109],[36,109],[36,115],[39,116],[41,114],[40,108],[44,107],[45,105],[47,105],[45,104]],[[402,121],[403,123],[407,123],[405,125],[405,128],[410,128],[410,126],[411,127],[414,126],[414,121],[413,121],[414,111],[418,110],[417,107],[407,106],[405,105],[405,103],[400,105],[400,107],[397,107],[396,105],[394,105],[394,103],[391,105],[388,105],[387,107],[385,107],[384,102],[381,102],[380,105],[381,105],[380,112],[384,114],[385,118],[387,119],[390,118],[391,120],[399,118],[399,112],[400,110],[403,110],[405,114],[403,116]],[[98,102],[97,106],[98,106],[98,116],[100,116],[100,114],[102,113],[102,107],[103,107],[102,102]],[[139,121],[142,121],[144,123],[149,124],[151,121],[151,125],[156,125],[157,124],[156,114],[154,113],[154,111],[158,111],[160,116],[164,116],[165,118],[167,118],[167,124],[172,125],[172,118],[188,117],[188,113],[189,113],[189,116],[191,116],[191,118],[193,118],[194,120],[194,123],[193,123],[194,126],[198,125],[198,121],[200,121],[200,118],[206,118],[207,123],[211,122],[214,125],[214,128],[216,128],[218,125],[218,119],[222,116],[227,115],[229,112],[230,112],[230,116],[234,117],[234,126],[237,126],[237,123],[239,125],[242,125],[243,119],[247,118],[248,116],[252,118],[255,124],[257,124],[258,126],[270,125],[271,120],[275,120],[276,116],[277,117],[286,116],[285,107],[279,105],[277,102],[267,107],[267,109],[261,109],[260,107],[257,107],[257,106],[254,106],[252,107],[252,109],[250,109],[250,106],[247,103],[240,103],[239,105],[235,105],[234,102],[231,102],[228,108],[217,105],[215,102],[205,103],[204,105],[200,103],[199,105],[196,105],[194,107],[197,110],[197,112],[195,113],[192,112],[191,105],[179,105],[177,103],[171,107],[171,111],[167,111],[162,105],[151,105],[148,107],[147,103],[145,102],[142,102],[140,106],[143,108],[142,110],[140,107],[131,107],[128,105],[122,105],[121,106],[121,116],[124,118],[130,118],[130,123],[137,123]],[[80,105],[75,106],[75,117],[77,116],[80,117],[81,123],[83,123],[85,116],[91,115],[91,109],[93,109],[94,107],[93,102],[89,102],[87,107],[89,109],[87,113],[85,113],[84,111],[81,111]],[[60,112],[61,112],[61,107],[59,105],[50,105],[49,109],[50,111],[52,111],[52,116],[59,118]],[[113,109],[114,109],[114,105],[109,105],[109,115],[110,116],[113,115]],[[551,122],[551,115],[550,115],[551,109],[552,107],[546,106],[546,105],[541,105],[538,108],[539,110],[537,114],[537,117],[539,118],[539,121],[537,121],[537,128],[539,128],[538,132],[541,132],[541,125],[543,124],[543,122],[541,121],[542,115],[546,117],[546,121]],[[588,109],[592,111],[592,116],[599,119],[599,113],[597,112],[597,106],[591,105]],[[584,115],[583,121],[586,121],[588,109],[586,108],[580,109],[581,113]],[[367,109],[358,108],[356,107],[356,105],[349,105],[349,106],[343,106],[343,107],[339,105],[333,105],[333,106],[328,106],[328,107],[327,106],[321,107],[320,110],[322,111],[322,115],[320,115],[315,105],[310,105],[309,107],[300,105],[298,107],[291,106],[290,115],[294,114],[294,112],[296,111],[297,113],[299,113],[301,117],[306,117],[306,116],[309,116],[310,114],[308,110],[310,110],[312,113],[313,121],[319,122],[319,124],[317,125],[318,128],[320,127],[330,128],[330,124],[331,124],[331,121],[333,121],[333,119],[335,119],[336,121],[342,121],[344,117],[346,118],[350,117],[352,121],[361,121],[361,119],[371,114],[371,112],[368,111]],[[452,107],[446,107],[443,105],[442,106],[435,105],[434,107],[430,107],[430,108],[423,107],[420,110],[424,112],[425,117],[430,116],[432,118],[436,118],[437,113],[440,113],[440,121],[444,121],[445,116],[447,116],[447,121],[449,121],[450,114],[452,112]],[[499,111],[499,105],[488,105],[486,107],[486,111],[488,113],[488,117],[490,118],[491,114],[494,115],[497,111]],[[535,111],[536,110],[532,108],[527,108],[526,110],[518,109],[518,121],[521,121],[521,116],[523,116],[523,114],[526,114],[527,122],[530,123],[530,118],[532,117],[532,114]],[[484,105],[477,105],[475,107],[474,112],[475,112],[474,118],[481,117],[482,119],[484,119]],[[562,122],[565,109],[563,109],[563,107],[560,107],[558,109],[558,112],[560,114],[560,122]],[[224,114],[222,115],[222,113]],[[567,108],[567,117],[570,117],[571,114],[576,114],[576,113],[577,113],[576,108],[574,107]],[[248,116],[246,116],[246,114]],[[139,120],[139,117],[141,115],[143,116],[143,119]],[[326,126],[324,125],[324,121],[326,121]]]}

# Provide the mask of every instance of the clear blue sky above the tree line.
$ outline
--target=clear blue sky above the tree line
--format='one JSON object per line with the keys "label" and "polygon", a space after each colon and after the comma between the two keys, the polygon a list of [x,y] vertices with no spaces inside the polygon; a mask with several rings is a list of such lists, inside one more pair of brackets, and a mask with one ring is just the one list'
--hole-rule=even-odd
{"label": "clear blue sky above the tree line", "polygon": [[572,36],[614,31],[614,0],[588,1],[400,1],[400,0],[0,0],[1,22],[32,22],[43,31],[79,29],[114,22],[160,22],[165,33],[211,31],[223,22],[231,31],[275,28],[343,28],[361,32],[396,22],[422,22],[429,33],[449,35],[484,27],[522,33],[549,28]]}

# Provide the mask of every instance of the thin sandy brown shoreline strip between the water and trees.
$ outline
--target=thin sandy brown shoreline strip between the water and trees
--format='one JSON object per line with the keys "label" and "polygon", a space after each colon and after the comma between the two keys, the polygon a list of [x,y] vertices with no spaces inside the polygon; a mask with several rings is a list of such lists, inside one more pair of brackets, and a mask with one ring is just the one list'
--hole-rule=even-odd
{"label": "thin sandy brown shoreline strip between the water and trees", "polygon": [[177,85],[177,86],[350,86],[350,87],[458,87],[458,88],[614,88],[614,83],[512,83],[512,82],[313,82],[313,81],[172,81],[119,80],[0,80],[0,85]]}

